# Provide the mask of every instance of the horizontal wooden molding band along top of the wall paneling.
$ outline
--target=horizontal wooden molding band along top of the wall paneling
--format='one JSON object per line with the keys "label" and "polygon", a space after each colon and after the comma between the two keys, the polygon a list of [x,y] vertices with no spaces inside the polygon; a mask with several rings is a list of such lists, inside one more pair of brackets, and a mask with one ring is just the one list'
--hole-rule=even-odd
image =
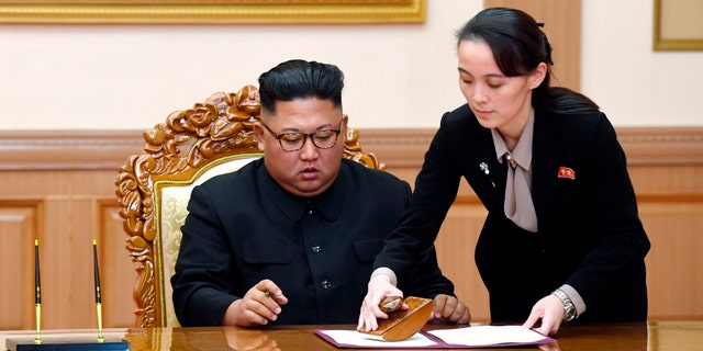
{"label": "horizontal wooden molding band along top of the wall paneling", "polygon": [[[703,163],[703,127],[620,127],[629,165]],[[389,167],[420,167],[435,133],[364,129],[359,141]],[[0,170],[109,170],[144,148],[143,131],[0,131]]]}

